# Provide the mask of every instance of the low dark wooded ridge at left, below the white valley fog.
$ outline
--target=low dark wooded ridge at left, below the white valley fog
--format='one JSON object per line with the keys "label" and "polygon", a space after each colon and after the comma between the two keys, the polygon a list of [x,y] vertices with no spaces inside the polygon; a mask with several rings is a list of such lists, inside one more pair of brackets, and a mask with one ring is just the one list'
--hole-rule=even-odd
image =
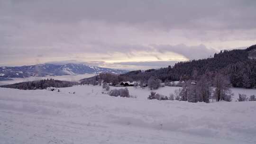
{"label": "low dark wooded ridge at left, below the white valley fog", "polygon": [[72,87],[73,85],[79,84],[78,82],[71,81],[59,81],[54,79],[40,80],[40,81],[27,81],[8,85],[2,85],[2,88],[13,88],[19,90],[37,90],[46,89],[48,87],[64,88]]}

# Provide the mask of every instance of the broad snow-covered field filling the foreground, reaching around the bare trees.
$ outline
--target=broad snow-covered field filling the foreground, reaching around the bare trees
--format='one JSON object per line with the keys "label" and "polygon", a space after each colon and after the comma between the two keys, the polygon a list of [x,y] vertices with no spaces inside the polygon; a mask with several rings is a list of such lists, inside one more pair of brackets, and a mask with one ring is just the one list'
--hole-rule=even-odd
{"label": "broad snow-covered field filling the foreground, reaching around the bare trees", "polygon": [[148,100],[150,90],[128,89],[137,98],[87,85],[61,92],[0,88],[0,144],[256,144],[256,101]]}

